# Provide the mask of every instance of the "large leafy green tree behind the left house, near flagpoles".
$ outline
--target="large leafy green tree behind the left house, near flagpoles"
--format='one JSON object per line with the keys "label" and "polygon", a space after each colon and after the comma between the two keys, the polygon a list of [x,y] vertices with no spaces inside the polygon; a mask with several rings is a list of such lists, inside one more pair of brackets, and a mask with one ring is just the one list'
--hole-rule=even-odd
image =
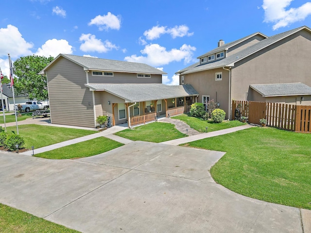
{"label": "large leafy green tree behind the left house, near flagpoles", "polygon": [[48,86],[45,75],[38,74],[54,58],[44,56],[20,57],[14,62],[14,88],[17,94],[28,94],[32,99],[47,100]]}

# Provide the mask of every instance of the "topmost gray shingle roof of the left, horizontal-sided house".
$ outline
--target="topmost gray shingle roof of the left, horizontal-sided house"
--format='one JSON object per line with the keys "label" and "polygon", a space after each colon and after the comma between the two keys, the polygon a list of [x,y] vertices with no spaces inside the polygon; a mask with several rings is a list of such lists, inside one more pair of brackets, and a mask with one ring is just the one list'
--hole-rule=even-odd
{"label": "topmost gray shingle roof of the left, horizontal-sided house", "polygon": [[117,60],[108,60],[95,57],[83,57],[68,54],[59,54],[48,66],[46,66],[40,74],[43,72],[60,56],[69,59],[70,61],[84,67],[85,70],[103,70],[103,71],[115,71],[115,72],[127,72],[127,73],[147,73],[147,74],[166,74],[165,72],[151,67],[143,63],[124,62]]}

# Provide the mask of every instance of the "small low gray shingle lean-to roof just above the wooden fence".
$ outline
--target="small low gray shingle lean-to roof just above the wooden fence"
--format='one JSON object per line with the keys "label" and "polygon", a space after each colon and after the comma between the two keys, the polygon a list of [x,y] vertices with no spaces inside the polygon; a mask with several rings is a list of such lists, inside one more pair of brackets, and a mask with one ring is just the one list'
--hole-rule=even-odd
{"label": "small low gray shingle lean-to roof just above the wooden fence", "polygon": [[262,97],[311,95],[311,87],[304,83],[272,83],[249,85]]}

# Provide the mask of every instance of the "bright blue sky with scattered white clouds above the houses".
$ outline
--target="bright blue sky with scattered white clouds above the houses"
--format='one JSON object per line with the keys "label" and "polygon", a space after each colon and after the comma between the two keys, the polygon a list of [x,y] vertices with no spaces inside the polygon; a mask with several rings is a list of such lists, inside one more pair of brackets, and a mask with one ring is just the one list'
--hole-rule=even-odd
{"label": "bright blue sky with scattered white clouds above the houses", "polygon": [[[233,3],[234,2],[234,3]],[[141,62],[165,84],[196,57],[255,32],[311,27],[306,0],[10,0],[1,2],[0,67],[27,55],[59,53]]]}

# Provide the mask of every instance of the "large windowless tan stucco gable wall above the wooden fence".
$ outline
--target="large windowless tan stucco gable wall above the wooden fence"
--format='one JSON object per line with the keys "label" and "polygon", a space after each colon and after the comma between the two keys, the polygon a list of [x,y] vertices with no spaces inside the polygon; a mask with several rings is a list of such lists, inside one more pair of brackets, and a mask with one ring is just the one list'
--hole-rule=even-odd
{"label": "large windowless tan stucco gable wall above the wooden fence", "polygon": [[231,98],[244,100],[250,84],[300,82],[311,86],[310,60],[311,34],[302,30],[236,63]]}

